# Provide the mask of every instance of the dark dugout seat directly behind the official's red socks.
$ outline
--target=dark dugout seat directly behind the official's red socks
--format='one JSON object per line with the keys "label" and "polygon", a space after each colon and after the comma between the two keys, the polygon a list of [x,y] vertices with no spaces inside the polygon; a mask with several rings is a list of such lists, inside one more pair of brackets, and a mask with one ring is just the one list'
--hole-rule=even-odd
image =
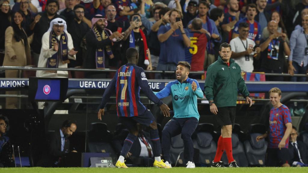
{"label": "dark dugout seat directly behind the official's red socks", "polygon": [[[245,155],[244,146],[238,139],[238,135],[235,133],[232,133],[232,152],[233,152],[233,158],[237,162],[239,167],[248,166],[248,161]],[[223,161],[225,164],[228,163],[226,152],[223,153],[221,161]]]}

